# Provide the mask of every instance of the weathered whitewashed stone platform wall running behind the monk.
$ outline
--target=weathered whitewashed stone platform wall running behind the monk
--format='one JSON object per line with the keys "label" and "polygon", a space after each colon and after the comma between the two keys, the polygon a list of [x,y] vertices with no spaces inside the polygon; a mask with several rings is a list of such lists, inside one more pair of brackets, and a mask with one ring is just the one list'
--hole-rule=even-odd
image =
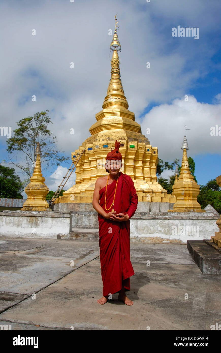
{"label": "weathered whitewashed stone platform wall running behind the monk", "polygon": [[[220,216],[214,209],[204,213],[174,212],[170,203],[139,202],[130,219],[130,238],[138,243],[186,243],[210,240]],[[92,204],[54,205],[54,211],[4,211],[0,213],[0,235],[52,239],[98,239],[98,217]]]}

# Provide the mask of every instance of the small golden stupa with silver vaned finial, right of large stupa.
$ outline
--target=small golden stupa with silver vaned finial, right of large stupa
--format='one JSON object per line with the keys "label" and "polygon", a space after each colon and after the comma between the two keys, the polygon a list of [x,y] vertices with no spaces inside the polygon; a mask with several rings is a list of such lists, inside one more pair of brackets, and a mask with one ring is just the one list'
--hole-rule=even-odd
{"label": "small golden stupa with silver vaned finial, right of large stupa", "polygon": [[189,150],[186,135],[184,136],[181,150],[183,150],[183,159],[180,175],[178,181],[173,184],[173,192],[177,201],[173,205],[173,210],[168,210],[168,212],[205,212],[205,210],[201,210],[201,205],[197,201],[199,185],[190,172],[186,153]]}

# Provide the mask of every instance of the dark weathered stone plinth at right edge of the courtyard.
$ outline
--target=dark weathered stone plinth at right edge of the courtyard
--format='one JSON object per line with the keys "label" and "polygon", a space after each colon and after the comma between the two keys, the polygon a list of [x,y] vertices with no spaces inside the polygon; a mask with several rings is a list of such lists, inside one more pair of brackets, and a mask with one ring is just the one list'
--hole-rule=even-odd
{"label": "dark weathered stone plinth at right edge of the courtyard", "polygon": [[221,254],[203,240],[187,240],[193,261],[205,275],[221,275]]}

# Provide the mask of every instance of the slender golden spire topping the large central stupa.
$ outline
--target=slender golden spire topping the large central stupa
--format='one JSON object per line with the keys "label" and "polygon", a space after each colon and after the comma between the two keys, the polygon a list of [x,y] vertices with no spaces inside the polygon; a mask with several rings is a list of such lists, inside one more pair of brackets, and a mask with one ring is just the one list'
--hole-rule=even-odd
{"label": "slender golden spire topping the large central stupa", "polygon": [[[117,15],[116,15],[117,16]],[[110,50],[113,51],[112,59],[111,59],[111,78],[110,83],[107,89],[107,96],[104,98],[104,102],[102,105],[103,109],[111,109],[111,108],[128,108],[127,98],[124,95],[124,89],[120,79],[120,60],[118,56],[118,52],[121,49],[121,45],[118,39],[117,34],[117,18],[115,16],[115,30],[112,42],[110,44]]]}

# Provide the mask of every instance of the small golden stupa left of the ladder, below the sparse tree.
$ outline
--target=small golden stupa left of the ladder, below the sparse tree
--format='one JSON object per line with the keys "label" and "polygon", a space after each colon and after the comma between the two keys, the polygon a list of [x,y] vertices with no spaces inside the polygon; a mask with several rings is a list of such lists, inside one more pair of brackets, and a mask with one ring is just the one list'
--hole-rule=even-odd
{"label": "small golden stupa left of the ladder, below the sparse tree", "polygon": [[49,211],[49,205],[46,201],[46,195],[49,189],[47,185],[44,184],[45,178],[42,177],[41,173],[40,157],[42,153],[39,142],[37,142],[35,155],[37,155],[35,169],[30,183],[25,188],[28,199],[23,204],[21,211]]}

